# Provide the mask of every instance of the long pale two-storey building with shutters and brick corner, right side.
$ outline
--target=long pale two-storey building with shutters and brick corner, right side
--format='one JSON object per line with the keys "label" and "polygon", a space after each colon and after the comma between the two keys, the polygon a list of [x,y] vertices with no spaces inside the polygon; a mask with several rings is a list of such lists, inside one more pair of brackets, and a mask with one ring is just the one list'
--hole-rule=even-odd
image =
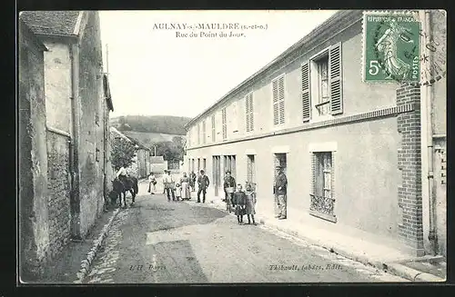
{"label": "long pale two-storey building with shutters and brick corner, right side", "polygon": [[[423,15],[445,42],[445,15]],[[415,255],[445,254],[445,185],[428,194],[436,183],[421,137],[442,139],[431,156],[444,152],[445,78],[421,87],[364,83],[362,18],[363,11],[333,15],[192,119],[186,170],[205,169],[215,197],[224,196],[227,170],[238,183],[257,183],[258,213],[273,216],[279,163],[288,176],[288,220],[361,230]],[[438,116],[426,118],[421,102]],[[435,176],[444,175],[435,166]]]}

